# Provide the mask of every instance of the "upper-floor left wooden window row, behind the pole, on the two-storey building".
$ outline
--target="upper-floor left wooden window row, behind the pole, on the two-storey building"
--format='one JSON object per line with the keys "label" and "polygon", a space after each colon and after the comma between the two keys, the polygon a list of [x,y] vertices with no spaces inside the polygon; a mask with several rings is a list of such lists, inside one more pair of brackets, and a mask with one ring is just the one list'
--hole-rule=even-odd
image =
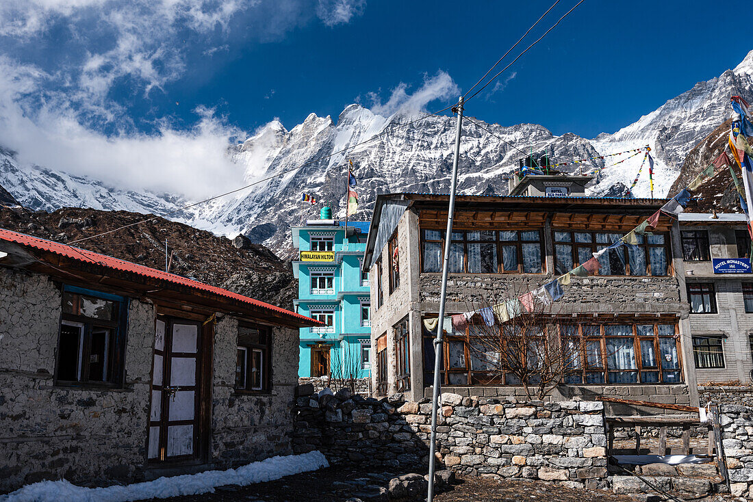
{"label": "upper-floor left wooden window row, behind the pole, on the two-storey building", "polygon": [[[439,232],[441,233],[440,239],[426,239],[425,232]],[[468,232],[494,232],[495,238],[494,240],[469,240],[468,239]],[[505,241],[501,240],[499,238],[500,232],[517,232],[517,239],[514,241]],[[521,233],[523,232],[538,232],[538,240],[523,240],[521,238]],[[455,239],[454,234],[456,233],[462,233],[463,237],[462,239]],[[438,228],[428,228],[428,227],[421,227],[419,228],[419,248],[421,250],[421,272],[422,273],[439,273],[441,272],[441,269],[437,272],[425,272],[424,270],[424,254],[425,254],[425,248],[426,243],[436,243],[439,245],[440,248],[440,263],[444,263],[444,243],[446,242],[446,239],[444,236],[445,230],[444,229],[438,229]],[[543,227],[535,227],[535,228],[505,228],[504,230],[500,229],[456,229],[453,230],[453,239],[452,242],[454,244],[462,243],[463,245],[463,271],[462,272],[450,272],[453,274],[543,274],[546,272],[547,268],[547,260],[546,260],[546,253],[544,251],[544,228]],[[497,254],[497,269],[495,272],[468,272],[468,244],[495,244],[496,254]],[[523,245],[524,244],[538,244],[539,245],[539,260],[541,261],[541,270],[538,272],[524,272],[523,271]],[[517,252],[517,268],[514,270],[506,270],[504,266],[504,260],[502,260],[502,246],[505,245],[514,245],[516,246],[516,252]]]}

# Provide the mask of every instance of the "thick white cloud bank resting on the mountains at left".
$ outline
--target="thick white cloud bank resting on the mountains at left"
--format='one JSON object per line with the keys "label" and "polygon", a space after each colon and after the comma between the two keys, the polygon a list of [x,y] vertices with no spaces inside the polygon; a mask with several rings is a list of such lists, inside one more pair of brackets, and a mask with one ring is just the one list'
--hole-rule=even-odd
{"label": "thick white cloud bank resting on the mountains at left", "polygon": [[197,108],[197,123],[175,129],[167,121],[153,134],[104,135],[84,126],[76,111],[44,104],[23,108],[21,93],[35,90],[44,73],[0,59],[0,130],[3,145],[17,151],[22,166],[43,166],[89,176],[112,187],[212,195],[243,181],[228,147],[245,133],[212,110]]}

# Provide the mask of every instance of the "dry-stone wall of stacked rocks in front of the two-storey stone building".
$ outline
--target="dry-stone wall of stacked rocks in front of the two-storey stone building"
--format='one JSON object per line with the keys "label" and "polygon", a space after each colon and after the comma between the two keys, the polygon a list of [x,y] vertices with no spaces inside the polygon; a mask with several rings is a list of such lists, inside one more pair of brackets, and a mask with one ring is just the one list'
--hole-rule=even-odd
{"label": "dry-stone wall of stacked rocks in front of the two-storey stone building", "polygon": [[[311,389],[300,388],[299,394]],[[294,452],[319,450],[331,464],[425,465],[430,400],[351,397],[349,392],[300,395]],[[523,477],[569,485],[606,486],[602,403],[518,402],[442,394],[437,452],[444,466],[468,475]]]}

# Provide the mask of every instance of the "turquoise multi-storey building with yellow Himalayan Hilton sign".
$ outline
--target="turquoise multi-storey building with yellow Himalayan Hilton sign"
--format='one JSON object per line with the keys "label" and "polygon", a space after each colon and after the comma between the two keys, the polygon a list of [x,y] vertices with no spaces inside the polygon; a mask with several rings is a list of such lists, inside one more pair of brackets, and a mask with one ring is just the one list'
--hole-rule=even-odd
{"label": "turquoise multi-storey building with yellow Himalayan Hilton sign", "polygon": [[[328,216],[328,208],[322,215]],[[368,378],[371,361],[369,277],[361,272],[369,223],[309,220],[292,227],[298,280],[296,312],[325,323],[300,329],[298,376]]]}

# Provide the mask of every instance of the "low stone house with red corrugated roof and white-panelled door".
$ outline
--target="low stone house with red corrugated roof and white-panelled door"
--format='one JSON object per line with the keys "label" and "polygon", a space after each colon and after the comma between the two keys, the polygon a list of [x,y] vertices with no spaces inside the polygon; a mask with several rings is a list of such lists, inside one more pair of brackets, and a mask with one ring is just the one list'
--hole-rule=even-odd
{"label": "low stone house with red corrugated roof and white-panelled door", "polygon": [[0,230],[0,492],[292,452],[298,328],[178,275]]}

